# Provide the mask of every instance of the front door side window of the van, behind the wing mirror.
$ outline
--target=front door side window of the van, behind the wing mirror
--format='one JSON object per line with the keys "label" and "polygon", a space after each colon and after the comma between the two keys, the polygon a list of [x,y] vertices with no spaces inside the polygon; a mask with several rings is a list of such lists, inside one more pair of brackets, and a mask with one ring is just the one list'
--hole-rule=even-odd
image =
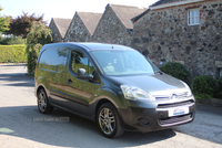
{"label": "front door side window of the van, behind the wing mirror", "polygon": [[87,74],[92,74],[94,67],[92,66],[90,60],[81,52],[72,51],[72,71],[77,74],[78,68],[84,68]]}

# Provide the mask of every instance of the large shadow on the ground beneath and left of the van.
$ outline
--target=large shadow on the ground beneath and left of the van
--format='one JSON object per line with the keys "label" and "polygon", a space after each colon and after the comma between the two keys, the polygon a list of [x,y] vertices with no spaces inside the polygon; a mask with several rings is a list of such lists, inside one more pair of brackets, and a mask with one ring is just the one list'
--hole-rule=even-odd
{"label": "large shadow on the ground beneath and left of the van", "polygon": [[[40,114],[37,106],[1,107],[0,135],[17,136],[60,147],[133,147],[152,144],[175,136],[171,129],[149,134],[125,133],[117,139],[101,136],[94,121],[56,108],[50,115]],[[69,121],[53,118],[69,117]],[[37,118],[46,120],[34,121]],[[49,121],[53,120],[53,121]],[[77,142],[82,140],[80,142]],[[102,142],[100,142],[102,141]],[[115,142],[113,145],[113,141]]]}

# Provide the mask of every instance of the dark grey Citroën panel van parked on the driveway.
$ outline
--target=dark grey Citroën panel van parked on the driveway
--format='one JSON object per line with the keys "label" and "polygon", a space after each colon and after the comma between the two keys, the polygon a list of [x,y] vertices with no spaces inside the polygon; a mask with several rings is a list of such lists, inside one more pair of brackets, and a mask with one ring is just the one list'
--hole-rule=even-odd
{"label": "dark grey Citro\u00ebn panel van parked on the driveway", "polygon": [[189,86],[140,52],[103,43],[44,45],[36,67],[40,113],[59,107],[98,123],[102,135],[152,131],[194,119]]}

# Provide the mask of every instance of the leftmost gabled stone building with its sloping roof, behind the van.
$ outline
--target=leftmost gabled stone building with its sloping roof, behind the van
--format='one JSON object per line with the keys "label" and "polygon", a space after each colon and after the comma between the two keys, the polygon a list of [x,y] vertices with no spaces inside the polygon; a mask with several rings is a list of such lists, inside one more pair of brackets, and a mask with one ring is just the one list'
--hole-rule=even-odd
{"label": "leftmost gabled stone building with its sloping roof, behind the van", "polygon": [[51,19],[49,29],[52,32],[52,39],[54,43],[63,41],[64,34],[67,33],[70,22],[71,19],[59,19],[59,18]]}

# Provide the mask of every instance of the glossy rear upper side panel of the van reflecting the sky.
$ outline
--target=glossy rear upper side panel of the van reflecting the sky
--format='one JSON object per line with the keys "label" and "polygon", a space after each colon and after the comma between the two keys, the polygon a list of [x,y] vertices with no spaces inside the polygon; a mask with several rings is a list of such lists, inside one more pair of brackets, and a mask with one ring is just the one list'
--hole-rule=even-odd
{"label": "glossy rear upper side panel of the van reflecting the sky", "polygon": [[39,67],[49,71],[62,72],[67,62],[67,49],[47,49],[39,60]]}

